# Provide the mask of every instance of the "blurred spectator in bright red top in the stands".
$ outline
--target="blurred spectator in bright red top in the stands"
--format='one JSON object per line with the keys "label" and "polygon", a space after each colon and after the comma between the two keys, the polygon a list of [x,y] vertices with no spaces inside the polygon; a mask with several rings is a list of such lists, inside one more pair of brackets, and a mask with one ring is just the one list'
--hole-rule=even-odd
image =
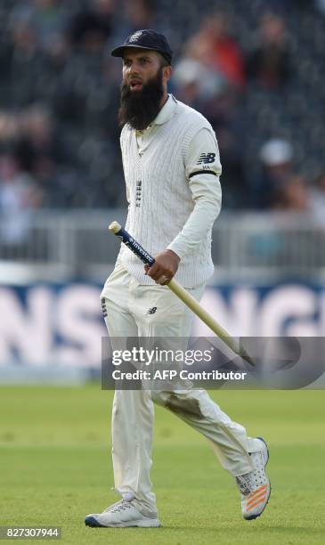
{"label": "blurred spectator in bright red top in the stands", "polygon": [[186,57],[213,69],[238,88],[245,85],[243,57],[229,32],[229,19],[223,12],[207,17],[199,32],[184,47]]}

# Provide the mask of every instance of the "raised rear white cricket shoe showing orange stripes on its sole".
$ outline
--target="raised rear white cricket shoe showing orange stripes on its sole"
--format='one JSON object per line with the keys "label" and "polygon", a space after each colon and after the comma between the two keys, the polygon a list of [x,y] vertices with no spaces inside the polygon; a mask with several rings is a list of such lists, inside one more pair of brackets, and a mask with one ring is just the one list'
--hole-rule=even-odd
{"label": "raised rear white cricket shoe showing orange stripes on its sole", "polygon": [[271,495],[271,483],[265,473],[269,460],[269,451],[262,437],[257,437],[264,443],[261,451],[251,452],[256,469],[246,475],[236,477],[236,483],[241,493],[241,512],[246,520],[253,520],[262,515]]}

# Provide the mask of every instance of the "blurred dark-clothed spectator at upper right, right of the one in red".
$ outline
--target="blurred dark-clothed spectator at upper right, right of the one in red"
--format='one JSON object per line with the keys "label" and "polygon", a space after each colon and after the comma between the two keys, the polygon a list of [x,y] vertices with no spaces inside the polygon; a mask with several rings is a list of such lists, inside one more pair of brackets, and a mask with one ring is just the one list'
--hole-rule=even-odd
{"label": "blurred dark-clothed spectator at upper right, right of the one in red", "polygon": [[284,20],[265,13],[258,30],[258,41],[247,58],[248,78],[272,90],[288,83],[291,57]]}

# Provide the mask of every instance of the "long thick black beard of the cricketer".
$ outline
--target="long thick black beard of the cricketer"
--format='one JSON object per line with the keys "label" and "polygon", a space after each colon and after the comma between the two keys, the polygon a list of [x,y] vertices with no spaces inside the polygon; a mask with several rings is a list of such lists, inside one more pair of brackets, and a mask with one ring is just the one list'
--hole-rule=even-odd
{"label": "long thick black beard of the cricketer", "polygon": [[121,102],[118,110],[119,125],[129,123],[134,129],[141,131],[150,125],[158,116],[164,89],[162,84],[162,67],[156,76],[144,85],[141,91],[131,91],[123,81],[121,85]]}

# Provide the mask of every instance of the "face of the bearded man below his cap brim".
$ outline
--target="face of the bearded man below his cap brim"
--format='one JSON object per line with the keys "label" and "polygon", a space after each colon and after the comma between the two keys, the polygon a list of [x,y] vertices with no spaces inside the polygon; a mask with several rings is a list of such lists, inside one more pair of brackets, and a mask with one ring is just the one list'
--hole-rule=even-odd
{"label": "face of the bearded man below his cap brim", "polygon": [[142,91],[152,77],[156,77],[160,68],[158,53],[147,49],[127,48],[123,56],[123,83],[130,91]]}

